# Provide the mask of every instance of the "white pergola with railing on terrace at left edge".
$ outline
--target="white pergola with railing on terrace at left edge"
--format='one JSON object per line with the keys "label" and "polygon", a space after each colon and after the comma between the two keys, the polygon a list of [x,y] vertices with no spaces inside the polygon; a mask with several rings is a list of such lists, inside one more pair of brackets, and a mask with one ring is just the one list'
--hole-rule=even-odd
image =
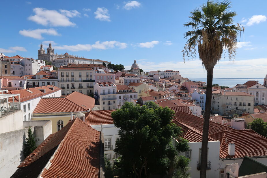
{"label": "white pergola with railing on terrace at left edge", "polygon": [[[0,118],[20,110],[20,94],[3,94],[5,91],[8,90],[0,90],[0,93],[2,92],[2,94],[0,94]],[[14,102],[15,96],[18,96],[18,104]],[[13,99],[13,105],[12,102],[8,101],[11,97]],[[11,105],[9,106],[10,103]]]}

